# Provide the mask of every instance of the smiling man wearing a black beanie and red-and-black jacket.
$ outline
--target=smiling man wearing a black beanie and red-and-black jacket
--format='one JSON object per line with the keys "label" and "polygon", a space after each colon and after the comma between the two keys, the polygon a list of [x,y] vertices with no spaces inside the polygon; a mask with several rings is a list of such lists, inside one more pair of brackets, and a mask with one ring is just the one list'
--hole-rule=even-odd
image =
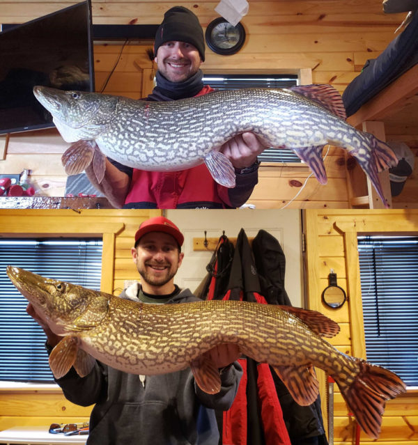
{"label": "smiling man wearing a black beanie and red-and-black jacket", "polygon": [[[154,57],[157,86],[146,97],[170,101],[213,91],[203,84],[205,39],[199,19],[191,10],[174,6],[167,10],[155,34]],[[235,136],[220,148],[235,167],[235,187],[217,184],[205,164],[183,171],[142,171],[107,160],[98,185],[93,167],[86,169],[95,187],[118,208],[238,208],[258,182],[259,155],[265,146],[253,133]]]}

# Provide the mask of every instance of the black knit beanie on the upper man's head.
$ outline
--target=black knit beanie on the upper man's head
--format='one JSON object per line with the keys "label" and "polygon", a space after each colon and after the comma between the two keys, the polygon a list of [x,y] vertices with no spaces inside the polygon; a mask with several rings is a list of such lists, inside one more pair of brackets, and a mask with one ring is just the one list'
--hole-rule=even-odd
{"label": "black knit beanie on the upper man's head", "polygon": [[164,14],[164,20],[155,34],[154,56],[157,56],[158,48],[164,42],[171,40],[191,43],[205,61],[205,38],[199,19],[183,6],[174,6]]}

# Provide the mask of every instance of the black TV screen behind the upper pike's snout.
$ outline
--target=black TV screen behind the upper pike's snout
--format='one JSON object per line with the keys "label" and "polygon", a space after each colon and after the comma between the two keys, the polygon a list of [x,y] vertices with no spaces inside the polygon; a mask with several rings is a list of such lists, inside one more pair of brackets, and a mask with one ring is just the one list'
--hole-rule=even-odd
{"label": "black TV screen behind the upper pike's snout", "polygon": [[0,33],[0,134],[54,126],[35,85],[94,91],[90,0]]}

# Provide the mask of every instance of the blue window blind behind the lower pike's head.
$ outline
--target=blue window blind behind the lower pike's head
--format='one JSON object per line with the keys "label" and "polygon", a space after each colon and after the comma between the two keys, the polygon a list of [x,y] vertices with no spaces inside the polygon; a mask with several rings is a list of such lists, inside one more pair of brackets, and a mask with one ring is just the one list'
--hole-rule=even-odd
{"label": "blue window blind behind the lower pike's head", "polygon": [[28,302],[8,278],[8,265],[100,290],[102,240],[0,240],[0,380],[53,382],[44,331],[26,313]]}

